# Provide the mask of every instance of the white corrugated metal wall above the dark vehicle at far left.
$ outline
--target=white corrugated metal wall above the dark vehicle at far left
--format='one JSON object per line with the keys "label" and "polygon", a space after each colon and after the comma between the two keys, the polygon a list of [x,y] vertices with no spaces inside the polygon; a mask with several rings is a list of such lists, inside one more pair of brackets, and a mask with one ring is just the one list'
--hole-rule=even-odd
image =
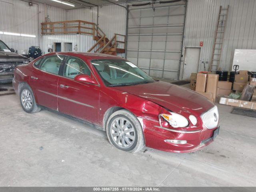
{"label": "white corrugated metal wall above the dark vehicle at far left", "polygon": [[[17,3],[18,2],[18,3]],[[28,50],[32,45],[38,46],[38,7],[29,7],[28,2],[18,0],[0,1],[0,31],[35,35],[33,37],[0,34],[0,39],[10,48]]]}

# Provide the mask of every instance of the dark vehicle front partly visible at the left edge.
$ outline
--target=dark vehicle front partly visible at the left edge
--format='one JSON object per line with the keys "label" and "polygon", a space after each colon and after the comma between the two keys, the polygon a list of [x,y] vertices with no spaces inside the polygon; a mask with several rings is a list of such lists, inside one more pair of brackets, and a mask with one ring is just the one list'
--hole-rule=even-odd
{"label": "dark vehicle front partly visible at the left edge", "polygon": [[28,62],[28,58],[11,52],[10,48],[0,40],[0,83],[12,82],[14,68]]}

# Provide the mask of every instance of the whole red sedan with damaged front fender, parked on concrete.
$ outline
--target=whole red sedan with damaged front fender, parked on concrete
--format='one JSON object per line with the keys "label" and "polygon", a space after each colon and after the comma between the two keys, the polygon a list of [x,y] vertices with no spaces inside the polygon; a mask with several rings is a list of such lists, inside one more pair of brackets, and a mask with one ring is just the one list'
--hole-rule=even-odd
{"label": "whole red sedan with damaged front fender, parked on concrete", "polygon": [[82,52],[43,55],[18,66],[13,86],[25,112],[43,107],[102,127],[110,144],[193,152],[218,134],[218,108],[192,90],[150,78],[120,57]]}

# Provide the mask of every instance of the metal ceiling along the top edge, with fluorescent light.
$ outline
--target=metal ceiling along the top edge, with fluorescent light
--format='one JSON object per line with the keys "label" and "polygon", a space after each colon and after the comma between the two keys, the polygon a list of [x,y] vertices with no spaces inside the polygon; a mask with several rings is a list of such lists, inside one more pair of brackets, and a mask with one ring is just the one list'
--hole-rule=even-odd
{"label": "metal ceiling along the top edge, with fluorescent light", "polygon": [[[30,1],[30,0],[26,0],[26,1]],[[106,6],[111,4],[122,4],[122,3],[128,3],[128,2],[138,2],[142,0],[59,0],[61,2],[74,4],[74,7],[66,4],[62,4],[60,2],[55,2],[52,0],[31,0],[31,1],[35,3],[43,3],[43,4],[45,3],[50,6],[55,6],[58,8],[69,10],[69,9],[77,9],[77,8],[91,8],[94,6]]]}

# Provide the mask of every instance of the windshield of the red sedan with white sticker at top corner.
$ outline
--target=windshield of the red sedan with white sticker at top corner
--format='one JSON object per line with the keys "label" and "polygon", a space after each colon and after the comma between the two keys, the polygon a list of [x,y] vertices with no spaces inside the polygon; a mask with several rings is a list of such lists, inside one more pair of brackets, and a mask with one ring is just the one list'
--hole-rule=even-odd
{"label": "windshield of the red sedan with white sticker at top corner", "polygon": [[150,76],[131,62],[122,59],[91,61],[106,86],[128,86],[154,82]]}

